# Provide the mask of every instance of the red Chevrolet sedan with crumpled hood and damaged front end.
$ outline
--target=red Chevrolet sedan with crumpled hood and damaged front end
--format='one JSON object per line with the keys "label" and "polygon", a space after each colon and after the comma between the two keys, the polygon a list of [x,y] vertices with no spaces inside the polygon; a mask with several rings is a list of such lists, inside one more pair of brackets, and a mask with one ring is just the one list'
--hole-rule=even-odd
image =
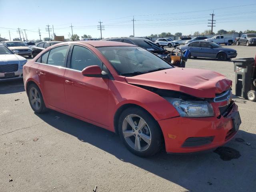
{"label": "red Chevrolet sedan with crumpled hood and damaged front end", "polygon": [[32,109],[50,108],[120,135],[138,156],[196,152],[234,137],[241,120],[232,82],[176,68],[132,44],[64,42],[23,67]]}

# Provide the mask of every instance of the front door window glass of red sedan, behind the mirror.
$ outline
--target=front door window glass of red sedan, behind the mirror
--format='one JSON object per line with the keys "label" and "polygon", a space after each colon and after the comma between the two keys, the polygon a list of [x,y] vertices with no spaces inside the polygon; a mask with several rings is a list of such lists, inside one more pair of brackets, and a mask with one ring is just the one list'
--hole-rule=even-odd
{"label": "front door window glass of red sedan, behind the mirror", "polygon": [[98,57],[87,48],[75,45],[70,59],[70,68],[82,71],[84,68],[92,65],[102,66]]}

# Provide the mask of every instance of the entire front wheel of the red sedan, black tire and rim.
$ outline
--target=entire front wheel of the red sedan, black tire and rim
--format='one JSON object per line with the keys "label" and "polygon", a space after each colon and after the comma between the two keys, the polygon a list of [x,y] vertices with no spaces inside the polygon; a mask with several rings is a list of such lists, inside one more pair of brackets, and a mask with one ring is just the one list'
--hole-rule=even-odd
{"label": "entire front wheel of the red sedan, black tire and rim", "polygon": [[126,148],[137,156],[152,156],[162,148],[162,132],[158,123],[141,108],[124,110],[118,130]]}

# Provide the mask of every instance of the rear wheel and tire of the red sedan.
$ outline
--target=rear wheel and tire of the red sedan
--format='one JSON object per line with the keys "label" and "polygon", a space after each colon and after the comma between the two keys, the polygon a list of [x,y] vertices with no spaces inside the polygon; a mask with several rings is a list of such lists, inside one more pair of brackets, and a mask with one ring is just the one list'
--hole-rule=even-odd
{"label": "rear wheel and tire of the red sedan", "polygon": [[44,104],[42,93],[36,84],[31,84],[28,87],[28,100],[31,108],[36,113],[44,113],[47,108]]}

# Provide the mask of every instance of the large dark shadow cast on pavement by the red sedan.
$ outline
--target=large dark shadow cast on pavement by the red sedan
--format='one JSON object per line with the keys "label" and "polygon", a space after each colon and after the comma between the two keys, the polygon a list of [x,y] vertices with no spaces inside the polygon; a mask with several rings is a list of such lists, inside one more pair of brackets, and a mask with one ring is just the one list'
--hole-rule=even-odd
{"label": "large dark shadow cast on pavement by the red sedan", "polygon": [[[174,182],[188,191],[234,192],[253,191],[255,188],[256,148],[245,143],[254,142],[255,134],[240,130],[236,138],[242,138],[244,142],[233,139],[225,145],[240,152],[236,157],[238,159],[230,161],[222,160],[213,150],[183,155],[166,154],[162,150],[153,157],[140,158],[130,153],[119,136],[113,132],[53,110],[36,115],[47,124],[75,136],[81,142],[92,144],[124,162]],[[226,153],[232,156],[232,150]]]}

